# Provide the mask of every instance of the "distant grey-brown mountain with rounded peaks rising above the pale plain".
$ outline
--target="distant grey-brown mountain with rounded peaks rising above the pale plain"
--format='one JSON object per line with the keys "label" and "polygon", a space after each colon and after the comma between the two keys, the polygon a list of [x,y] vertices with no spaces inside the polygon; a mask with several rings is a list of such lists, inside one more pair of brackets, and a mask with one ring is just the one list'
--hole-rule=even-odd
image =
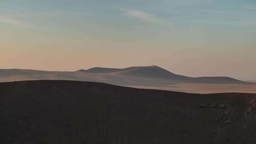
{"label": "distant grey-brown mountain with rounded peaks rising above the pale plain", "polygon": [[230,77],[187,77],[174,74],[158,66],[138,66],[128,67],[124,69],[111,69],[95,67],[88,70],[79,70],[78,72],[87,72],[95,74],[110,74],[116,73],[123,76],[142,77],[151,79],[173,80],[175,82],[190,82],[190,83],[249,83],[239,81]]}

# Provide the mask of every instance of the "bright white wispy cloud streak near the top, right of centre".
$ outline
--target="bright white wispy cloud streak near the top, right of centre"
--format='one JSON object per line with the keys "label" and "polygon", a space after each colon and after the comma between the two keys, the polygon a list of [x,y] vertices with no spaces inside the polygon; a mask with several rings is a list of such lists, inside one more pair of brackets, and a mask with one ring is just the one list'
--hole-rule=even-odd
{"label": "bright white wispy cloud streak near the top, right of centre", "polygon": [[130,18],[137,18],[144,22],[156,23],[156,24],[171,24],[170,22],[165,21],[161,18],[158,18],[155,15],[146,13],[145,11],[140,11],[140,10],[122,10],[122,11],[124,11],[125,16],[128,16]]}

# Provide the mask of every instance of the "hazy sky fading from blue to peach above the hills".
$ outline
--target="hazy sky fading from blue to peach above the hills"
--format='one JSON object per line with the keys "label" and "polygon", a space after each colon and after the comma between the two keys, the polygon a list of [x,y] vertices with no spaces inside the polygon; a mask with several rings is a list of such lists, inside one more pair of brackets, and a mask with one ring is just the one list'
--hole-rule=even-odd
{"label": "hazy sky fading from blue to peach above the hills", "polygon": [[256,0],[0,0],[0,69],[147,65],[256,80]]}

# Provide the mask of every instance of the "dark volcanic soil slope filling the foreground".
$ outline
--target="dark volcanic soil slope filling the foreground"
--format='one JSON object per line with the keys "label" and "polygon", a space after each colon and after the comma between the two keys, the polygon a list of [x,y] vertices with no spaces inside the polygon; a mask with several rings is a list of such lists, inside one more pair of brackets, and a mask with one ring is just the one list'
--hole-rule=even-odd
{"label": "dark volcanic soil slope filling the foreground", "polygon": [[0,83],[0,144],[256,144],[256,94]]}

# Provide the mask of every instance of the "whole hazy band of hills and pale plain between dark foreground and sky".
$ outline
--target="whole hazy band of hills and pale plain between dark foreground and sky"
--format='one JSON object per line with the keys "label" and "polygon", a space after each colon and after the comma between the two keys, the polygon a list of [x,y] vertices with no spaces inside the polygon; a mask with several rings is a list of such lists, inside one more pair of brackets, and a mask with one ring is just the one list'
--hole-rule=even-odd
{"label": "whole hazy band of hills and pale plain between dark foreground and sky", "polygon": [[190,93],[256,93],[256,85],[252,82],[230,77],[188,77],[169,72],[158,66],[137,66],[124,69],[95,67],[75,72],[0,69],[0,82],[29,80],[92,81]]}

